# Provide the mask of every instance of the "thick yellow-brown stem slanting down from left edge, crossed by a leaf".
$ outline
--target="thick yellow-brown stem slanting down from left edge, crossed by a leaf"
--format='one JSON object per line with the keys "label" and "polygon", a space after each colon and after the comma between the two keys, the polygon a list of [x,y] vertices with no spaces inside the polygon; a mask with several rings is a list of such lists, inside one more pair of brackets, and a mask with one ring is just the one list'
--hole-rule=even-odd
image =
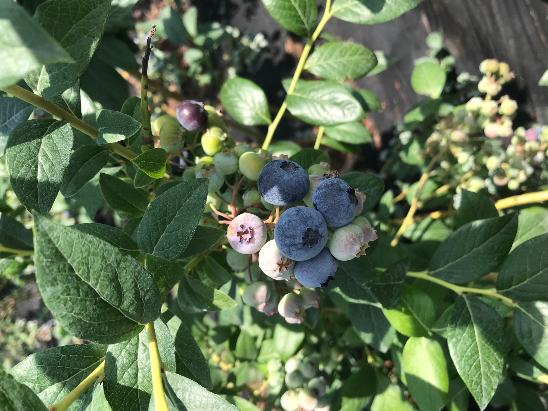
{"label": "thick yellow-brown stem slanting down from left edge, crossed by a leaf", "polygon": [[[99,130],[95,127],[84,123],[81,119],[61,109],[61,107],[56,105],[54,102],[46,101],[41,96],[31,93],[28,90],[19,87],[19,85],[10,85],[9,87],[5,87],[2,90],[6,93],[12,94],[20,100],[26,101],[27,103],[38,107],[39,109],[47,111],[52,116],[58,117],[61,120],[68,121],[72,125],[72,127],[81,131],[84,134],[89,135],[94,140],[96,140],[97,136],[99,135]],[[117,155],[127,158],[128,160],[131,160],[137,156],[133,151],[126,149],[124,146],[119,145],[115,142],[105,144],[105,146],[115,152]]]}

